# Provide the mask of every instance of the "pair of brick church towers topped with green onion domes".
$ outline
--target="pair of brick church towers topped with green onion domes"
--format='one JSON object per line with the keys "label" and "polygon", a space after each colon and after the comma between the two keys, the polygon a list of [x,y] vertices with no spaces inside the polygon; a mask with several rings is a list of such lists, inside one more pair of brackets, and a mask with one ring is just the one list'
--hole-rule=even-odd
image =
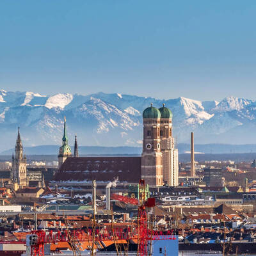
{"label": "pair of brick church towers topped with green onion domes", "polygon": [[152,105],[143,111],[141,179],[149,186],[178,186],[179,158],[172,137],[172,111]]}

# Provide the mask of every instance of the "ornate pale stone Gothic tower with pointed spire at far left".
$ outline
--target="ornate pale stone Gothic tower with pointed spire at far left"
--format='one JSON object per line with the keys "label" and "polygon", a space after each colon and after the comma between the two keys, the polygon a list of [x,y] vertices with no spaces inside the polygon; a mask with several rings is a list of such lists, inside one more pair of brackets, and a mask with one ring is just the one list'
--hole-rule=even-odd
{"label": "ornate pale stone Gothic tower with pointed spire at far left", "polygon": [[27,159],[23,156],[20,127],[15,145],[15,156],[12,155],[12,181],[17,182],[19,186],[27,186]]}

